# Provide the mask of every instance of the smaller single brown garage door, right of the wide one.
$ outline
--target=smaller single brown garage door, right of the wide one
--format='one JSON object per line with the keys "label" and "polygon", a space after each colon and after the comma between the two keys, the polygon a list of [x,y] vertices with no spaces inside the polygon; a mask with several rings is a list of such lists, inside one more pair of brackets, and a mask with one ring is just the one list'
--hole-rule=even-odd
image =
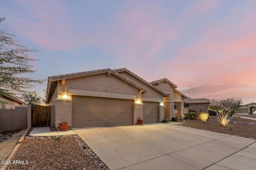
{"label": "smaller single brown garage door, right of the wide one", "polygon": [[144,123],[158,122],[158,102],[143,102]]}

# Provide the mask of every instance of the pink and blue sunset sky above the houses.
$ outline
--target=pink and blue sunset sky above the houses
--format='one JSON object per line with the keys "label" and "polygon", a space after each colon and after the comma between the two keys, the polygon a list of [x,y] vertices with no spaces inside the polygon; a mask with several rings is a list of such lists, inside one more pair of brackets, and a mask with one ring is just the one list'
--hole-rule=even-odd
{"label": "pink and blue sunset sky above the houses", "polygon": [[[256,102],[255,0],[1,0],[0,29],[48,76],[127,68],[190,98]],[[47,82],[32,90],[43,96]]]}

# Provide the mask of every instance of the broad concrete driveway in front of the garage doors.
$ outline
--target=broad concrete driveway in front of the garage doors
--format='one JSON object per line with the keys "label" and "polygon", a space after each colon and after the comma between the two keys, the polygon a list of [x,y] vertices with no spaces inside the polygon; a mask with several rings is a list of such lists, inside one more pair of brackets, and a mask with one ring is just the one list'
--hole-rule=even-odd
{"label": "broad concrete driveway in front of the garage doors", "polygon": [[172,125],[74,128],[111,170],[254,170],[256,140]]}

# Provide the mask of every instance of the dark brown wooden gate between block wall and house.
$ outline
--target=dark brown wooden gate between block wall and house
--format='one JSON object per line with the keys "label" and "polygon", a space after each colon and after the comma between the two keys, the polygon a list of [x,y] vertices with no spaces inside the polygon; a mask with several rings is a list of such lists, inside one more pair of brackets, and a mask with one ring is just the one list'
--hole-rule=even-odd
{"label": "dark brown wooden gate between block wall and house", "polygon": [[32,127],[51,126],[51,106],[32,105]]}

